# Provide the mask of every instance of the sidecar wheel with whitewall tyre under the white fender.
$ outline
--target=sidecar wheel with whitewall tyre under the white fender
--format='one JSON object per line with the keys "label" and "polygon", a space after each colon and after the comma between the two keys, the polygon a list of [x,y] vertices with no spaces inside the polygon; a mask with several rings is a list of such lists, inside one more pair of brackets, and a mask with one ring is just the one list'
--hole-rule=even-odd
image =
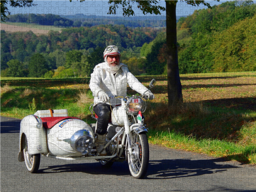
{"label": "sidecar wheel with whitewall tyre under the white fender", "polygon": [[25,136],[24,144],[25,146],[23,149],[23,154],[24,154],[26,167],[30,173],[36,173],[39,169],[41,154],[40,153],[34,154],[34,155],[28,154],[28,141],[26,136]]}

